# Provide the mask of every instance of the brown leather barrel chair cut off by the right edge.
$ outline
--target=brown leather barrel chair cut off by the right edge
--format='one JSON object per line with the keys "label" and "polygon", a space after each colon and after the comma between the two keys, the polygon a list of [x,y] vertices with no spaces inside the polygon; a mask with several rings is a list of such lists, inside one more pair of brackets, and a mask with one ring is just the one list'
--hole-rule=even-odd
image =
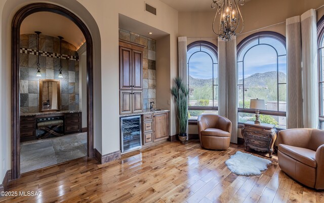
{"label": "brown leather barrel chair cut off by the right edge", "polygon": [[324,130],[280,130],[278,139],[281,170],[308,187],[324,189]]}

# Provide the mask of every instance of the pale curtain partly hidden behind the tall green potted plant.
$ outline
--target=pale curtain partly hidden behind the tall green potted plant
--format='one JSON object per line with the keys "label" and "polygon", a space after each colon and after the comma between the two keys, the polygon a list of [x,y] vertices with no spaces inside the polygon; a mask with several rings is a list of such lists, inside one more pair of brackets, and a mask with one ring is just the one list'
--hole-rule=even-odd
{"label": "pale curtain partly hidden behind the tall green potted plant", "polygon": [[[178,37],[178,70],[179,77],[185,85],[188,85],[188,66],[187,66],[187,37]],[[188,125],[187,125],[188,140]]]}

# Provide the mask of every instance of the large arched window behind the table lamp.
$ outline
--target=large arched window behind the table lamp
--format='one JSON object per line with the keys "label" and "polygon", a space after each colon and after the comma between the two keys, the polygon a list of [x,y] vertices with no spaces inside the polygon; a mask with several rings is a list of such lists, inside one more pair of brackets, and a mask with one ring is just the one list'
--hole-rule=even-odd
{"label": "large arched window behind the table lamp", "polygon": [[286,39],[276,32],[255,33],[237,46],[238,122],[253,121],[251,99],[264,99],[259,107],[262,123],[286,128]]}

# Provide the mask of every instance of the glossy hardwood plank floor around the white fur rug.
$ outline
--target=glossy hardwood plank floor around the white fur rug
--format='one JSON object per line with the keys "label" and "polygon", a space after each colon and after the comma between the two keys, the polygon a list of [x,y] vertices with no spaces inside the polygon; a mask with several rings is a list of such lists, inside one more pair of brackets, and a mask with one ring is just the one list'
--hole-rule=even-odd
{"label": "glossy hardwood plank floor around the white fur rug", "polygon": [[283,173],[274,154],[260,176],[237,176],[225,161],[242,146],[211,151],[199,141],[166,142],[98,164],[80,158],[23,174],[9,191],[42,196],[0,197],[0,202],[324,202],[324,191],[306,188]]}

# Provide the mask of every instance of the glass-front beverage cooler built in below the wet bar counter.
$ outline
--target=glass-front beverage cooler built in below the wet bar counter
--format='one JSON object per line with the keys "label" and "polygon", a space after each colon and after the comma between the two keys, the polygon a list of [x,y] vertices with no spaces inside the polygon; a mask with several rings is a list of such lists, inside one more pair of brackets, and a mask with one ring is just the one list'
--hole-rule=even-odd
{"label": "glass-front beverage cooler built in below the wet bar counter", "polygon": [[141,116],[120,118],[120,148],[127,152],[142,148]]}

